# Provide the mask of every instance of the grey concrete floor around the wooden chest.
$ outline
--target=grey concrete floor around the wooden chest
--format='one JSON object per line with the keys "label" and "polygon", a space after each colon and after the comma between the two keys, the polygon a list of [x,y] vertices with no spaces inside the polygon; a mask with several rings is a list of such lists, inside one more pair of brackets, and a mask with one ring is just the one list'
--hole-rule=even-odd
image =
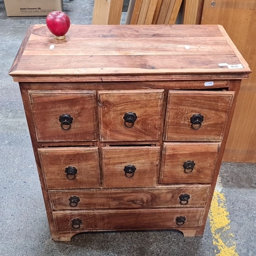
{"label": "grey concrete floor around the wooden chest", "polygon": [[[64,0],[73,24],[91,24],[93,0]],[[18,84],[8,76],[30,24],[45,17],[7,17],[0,0],[0,255],[217,255],[209,222],[202,238],[179,232],[98,232],[53,242]],[[221,179],[238,255],[256,255],[256,164],[224,163]],[[218,254],[219,255],[219,254]],[[224,254],[221,254],[224,255]],[[229,256],[226,253],[226,256]]]}

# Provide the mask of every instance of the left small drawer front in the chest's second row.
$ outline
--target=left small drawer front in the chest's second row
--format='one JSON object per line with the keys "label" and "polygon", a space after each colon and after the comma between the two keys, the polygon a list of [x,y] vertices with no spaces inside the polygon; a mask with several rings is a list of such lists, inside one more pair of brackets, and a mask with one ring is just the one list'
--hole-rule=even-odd
{"label": "left small drawer front in the chest's second row", "polygon": [[97,147],[38,149],[47,189],[100,187]]}

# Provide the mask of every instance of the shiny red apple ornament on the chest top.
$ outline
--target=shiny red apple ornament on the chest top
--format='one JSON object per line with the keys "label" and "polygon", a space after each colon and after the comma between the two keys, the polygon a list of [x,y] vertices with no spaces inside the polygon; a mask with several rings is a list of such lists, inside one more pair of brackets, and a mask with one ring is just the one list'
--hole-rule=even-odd
{"label": "shiny red apple ornament on the chest top", "polygon": [[65,35],[69,31],[70,18],[64,12],[50,12],[46,17],[46,25],[55,35],[55,39],[62,40],[66,38]]}

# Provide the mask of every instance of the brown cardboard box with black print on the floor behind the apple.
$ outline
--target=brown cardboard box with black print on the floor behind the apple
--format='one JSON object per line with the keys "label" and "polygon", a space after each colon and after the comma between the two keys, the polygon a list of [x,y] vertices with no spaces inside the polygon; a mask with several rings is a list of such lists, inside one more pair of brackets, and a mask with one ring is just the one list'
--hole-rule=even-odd
{"label": "brown cardboard box with black print on the floor behind the apple", "polygon": [[47,16],[62,11],[62,0],[5,0],[7,16]]}

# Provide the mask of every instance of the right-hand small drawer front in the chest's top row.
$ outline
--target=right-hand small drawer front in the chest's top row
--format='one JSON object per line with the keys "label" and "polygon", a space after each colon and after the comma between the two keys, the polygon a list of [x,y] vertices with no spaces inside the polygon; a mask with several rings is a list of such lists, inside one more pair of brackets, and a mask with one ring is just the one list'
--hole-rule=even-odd
{"label": "right-hand small drawer front in the chest's top row", "polygon": [[169,91],[164,139],[221,141],[234,92]]}

